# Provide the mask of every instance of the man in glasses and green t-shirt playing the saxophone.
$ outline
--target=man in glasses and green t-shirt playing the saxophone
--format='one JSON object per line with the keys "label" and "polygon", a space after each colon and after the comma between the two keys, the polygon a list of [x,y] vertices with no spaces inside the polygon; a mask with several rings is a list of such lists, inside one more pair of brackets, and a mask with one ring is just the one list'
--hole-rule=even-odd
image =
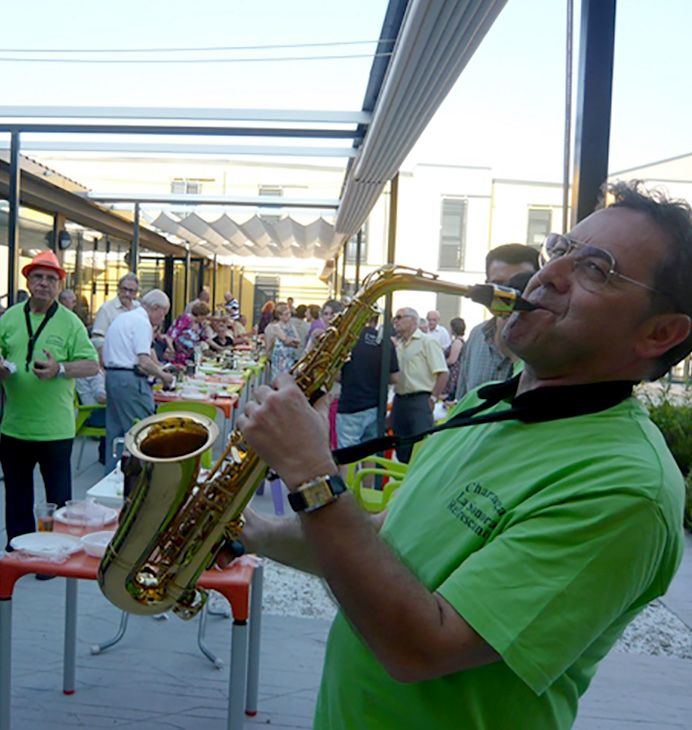
{"label": "man in glasses and green t-shirt playing the saxophone", "polygon": [[[670,584],[683,479],[631,393],[692,351],[692,210],[608,192],[546,240],[524,293],[537,308],[503,332],[522,373],[457,406],[475,425],[425,441],[386,516],[344,491],[319,403],[290,377],[246,404],[238,426],[299,514],[246,511],[246,547],[323,575],[341,608],[317,730],[567,730]],[[288,432],[310,449],[283,448]]]}

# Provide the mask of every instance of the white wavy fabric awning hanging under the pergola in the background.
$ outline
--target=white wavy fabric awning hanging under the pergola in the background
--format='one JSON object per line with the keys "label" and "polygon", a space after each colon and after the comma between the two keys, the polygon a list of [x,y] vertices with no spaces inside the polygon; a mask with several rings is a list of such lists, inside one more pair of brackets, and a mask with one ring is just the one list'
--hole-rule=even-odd
{"label": "white wavy fabric awning hanging under the pergola in the background", "polygon": [[151,226],[219,256],[264,256],[327,259],[333,254],[334,225],[324,218],[299,223],[290,216],[254,215],[239,222],[224,213],[206,220],[197,213],[162,212]]}

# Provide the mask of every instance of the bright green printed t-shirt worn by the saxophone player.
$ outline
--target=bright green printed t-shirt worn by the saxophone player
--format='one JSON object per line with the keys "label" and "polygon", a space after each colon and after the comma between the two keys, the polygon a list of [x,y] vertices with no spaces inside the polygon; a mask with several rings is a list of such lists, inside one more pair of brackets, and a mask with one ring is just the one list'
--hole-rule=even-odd
{"label": "bright green printed t-shirt worn by the saxophone player", "polygon": [[[463,407],[477,402],[472,393]],[[339,614],[315,728],[572,727],[598,662],[673,577],[683,501],[680,472],[633,398],[428,438],[382,536],[502,660],[401,684]]]}

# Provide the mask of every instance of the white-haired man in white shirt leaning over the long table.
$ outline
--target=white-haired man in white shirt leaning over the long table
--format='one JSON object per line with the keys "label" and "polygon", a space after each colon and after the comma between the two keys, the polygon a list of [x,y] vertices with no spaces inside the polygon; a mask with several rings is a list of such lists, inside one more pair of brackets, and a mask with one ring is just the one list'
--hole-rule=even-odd
{"label": "white-haired man in white shirt leaning over the long table", "polygon": [[160,289],[152,289],[141,307],[120,315],[108,328],[103,346],[106,370],[106,473],[115,466],[113,440],[124,436],[137,419],[155,411],[148,376],[170,385],[166,373],[151,356],[154,327],[168,314],[171,303]]}

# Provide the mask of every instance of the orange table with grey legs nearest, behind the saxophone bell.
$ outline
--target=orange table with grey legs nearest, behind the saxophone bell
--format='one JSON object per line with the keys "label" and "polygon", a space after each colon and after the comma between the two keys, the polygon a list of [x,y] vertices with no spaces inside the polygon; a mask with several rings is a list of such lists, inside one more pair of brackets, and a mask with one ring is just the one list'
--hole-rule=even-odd
{"label": "orange table with grey legs nearest, behind the saxophone bell", "polygon": [[[77,579],[95,580],[99,559],[75,553],[64,563],[26,560],[18,553],[0,559],[0,730],[10,729],[12,672],[12,594],[23,575],[47,573],[66,578],[63,692],[75,691]],[[257,712],[259,633],[262,608],[262,564],[243,556],[225,570],[208,570],[198,583],[221,593],[231,604],[233,628],[228,692],[228,730],[242,730],[245,713]]]}

